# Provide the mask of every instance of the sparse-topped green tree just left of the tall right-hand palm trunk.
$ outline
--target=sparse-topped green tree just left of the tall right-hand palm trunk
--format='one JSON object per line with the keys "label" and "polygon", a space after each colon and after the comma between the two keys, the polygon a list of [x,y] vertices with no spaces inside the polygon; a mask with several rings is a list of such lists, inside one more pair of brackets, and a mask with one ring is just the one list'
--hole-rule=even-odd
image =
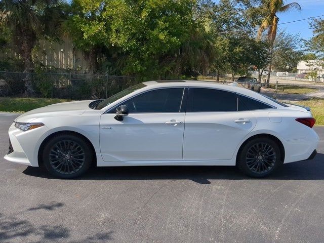
{"label": "sparse-topped green tree just left of the tall right-hand palm trunk", "polygon": [[[255,1],[258,2],[258,1]],[[252,1],[221,0],[215,5],[213,19],[217,29],[215,45],[218,55],[213,71],[246,74],[267,60],[267,43],[256,41],[254,28],[261,20],[258,5]]]}

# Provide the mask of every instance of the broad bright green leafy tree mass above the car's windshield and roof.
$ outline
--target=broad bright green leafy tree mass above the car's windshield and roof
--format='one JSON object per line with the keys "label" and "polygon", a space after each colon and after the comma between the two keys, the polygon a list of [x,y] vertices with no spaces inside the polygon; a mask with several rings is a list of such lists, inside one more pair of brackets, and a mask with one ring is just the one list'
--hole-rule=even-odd
{"label": "broad bright green leafy tree mass above the car's windshield and roof", "polygon": [[193,0],[74,0],[71,8],[66,32],[92,72],[179,77],[206,72],[216,55],[214,23]]}

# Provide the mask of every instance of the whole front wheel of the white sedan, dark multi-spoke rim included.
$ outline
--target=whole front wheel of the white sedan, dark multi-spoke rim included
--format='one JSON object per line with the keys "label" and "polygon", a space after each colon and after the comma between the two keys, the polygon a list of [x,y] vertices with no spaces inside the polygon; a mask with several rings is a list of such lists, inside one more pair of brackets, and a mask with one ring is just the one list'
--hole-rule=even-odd
{"label": "whole front wheel of the white sedan, dark multi-spoke rim included", "polygon": [[51,138],[42,153],[47,171],[59,178],[70,179],[88,171],[93,160],[89,142],[82,136],[66,133]]}

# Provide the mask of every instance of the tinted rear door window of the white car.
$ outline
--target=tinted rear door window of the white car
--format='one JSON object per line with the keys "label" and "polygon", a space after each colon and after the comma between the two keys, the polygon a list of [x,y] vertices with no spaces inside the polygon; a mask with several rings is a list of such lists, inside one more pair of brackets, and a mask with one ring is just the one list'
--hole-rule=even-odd
{"label": "tinted rear door window of the white car", "polygon": [[188,111],[236,111],[237,97],[232,92],[205,88],[189,89]]}

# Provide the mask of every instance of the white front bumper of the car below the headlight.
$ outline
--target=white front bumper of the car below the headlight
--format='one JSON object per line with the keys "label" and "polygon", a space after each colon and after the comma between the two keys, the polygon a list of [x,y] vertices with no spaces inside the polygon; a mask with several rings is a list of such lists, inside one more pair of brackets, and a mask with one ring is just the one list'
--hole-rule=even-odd
{"label": "white front bumper of the car below the headlight", "polygon": [[14,163],[38,167],[38,148],[41,138],[49,129],[46,126],[23,132],[13,123],[9,128],[11,149],[5,159]]}

